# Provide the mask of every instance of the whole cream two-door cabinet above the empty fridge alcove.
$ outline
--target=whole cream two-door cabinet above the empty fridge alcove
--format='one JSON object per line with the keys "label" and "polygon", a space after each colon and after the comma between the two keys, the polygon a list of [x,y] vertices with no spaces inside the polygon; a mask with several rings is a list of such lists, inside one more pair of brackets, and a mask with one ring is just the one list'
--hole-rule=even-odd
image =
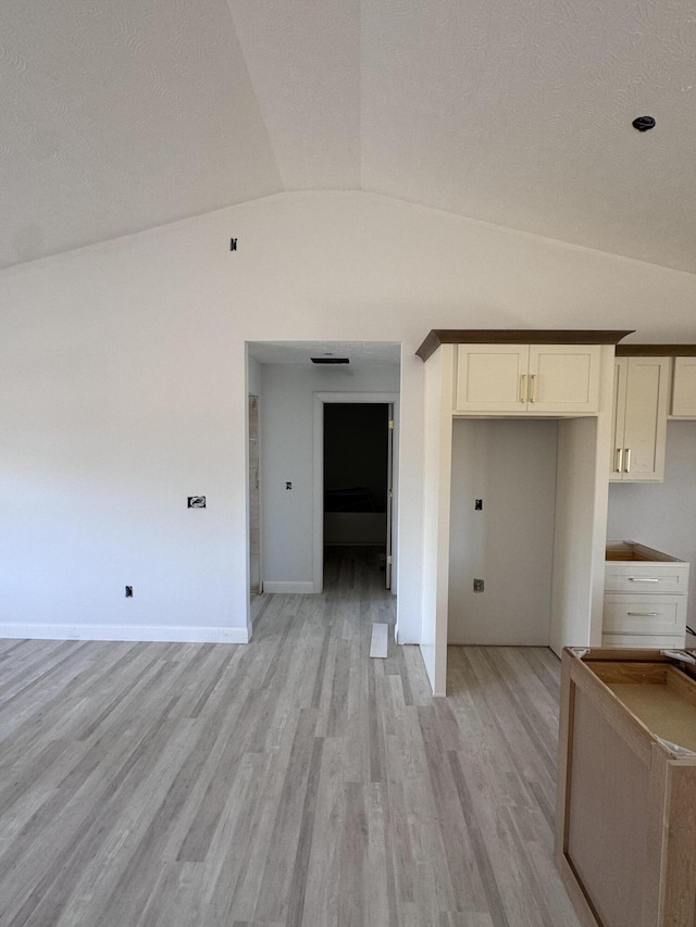
{"label": "whole cream two-door cabinet above the empty fridge alcove", "polygon": [[459,345],[455,412],[597,412],[600,345]]}

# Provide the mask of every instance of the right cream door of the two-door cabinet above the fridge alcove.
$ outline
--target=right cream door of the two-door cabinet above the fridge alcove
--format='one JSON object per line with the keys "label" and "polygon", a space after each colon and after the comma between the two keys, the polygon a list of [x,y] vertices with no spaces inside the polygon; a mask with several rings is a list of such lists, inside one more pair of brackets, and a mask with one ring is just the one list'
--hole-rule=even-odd
{"label": "right cream door of the two-door cabinet above the fridge alcove", "polygon": [[599,345],[532,345],[530,412],[597,412]]}

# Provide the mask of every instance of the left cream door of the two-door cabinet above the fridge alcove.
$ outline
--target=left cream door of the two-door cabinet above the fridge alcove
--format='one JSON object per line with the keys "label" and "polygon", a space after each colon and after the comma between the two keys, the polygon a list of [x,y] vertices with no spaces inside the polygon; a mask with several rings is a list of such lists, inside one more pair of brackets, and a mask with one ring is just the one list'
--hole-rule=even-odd
{"label": "left cream door of the two-door cabinet above the fridge alcove", "polygon": [[526,345],[460,345],[455,410],[524,412],[522,388],[527,379],[529,352]]}

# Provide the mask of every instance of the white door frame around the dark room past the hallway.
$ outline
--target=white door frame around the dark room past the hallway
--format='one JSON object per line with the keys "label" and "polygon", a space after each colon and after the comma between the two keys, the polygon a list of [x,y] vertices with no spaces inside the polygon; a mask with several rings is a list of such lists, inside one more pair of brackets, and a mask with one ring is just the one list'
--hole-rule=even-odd
{"label": "white door frame around the dark room past the hallway", "polygon": [[399,393],[398,392],[314,392],[312,427],[312,585],[314,592],[324,589],[324,403],[365,403],[394,405],[394,452],[391,455],[391,592],[398,585],[398,556],[396,539],[398,526],[398,447]]}

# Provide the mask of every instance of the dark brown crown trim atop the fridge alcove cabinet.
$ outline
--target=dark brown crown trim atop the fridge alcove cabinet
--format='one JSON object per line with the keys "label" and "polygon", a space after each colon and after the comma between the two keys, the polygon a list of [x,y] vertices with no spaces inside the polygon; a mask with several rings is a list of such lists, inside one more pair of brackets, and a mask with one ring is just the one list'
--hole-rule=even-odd
{"label": "dark brown crown trim atop the fridge alcove cabinet", "polygon": [[617,345],[630,331],[566,328],[433,328],[415,352],[427,361],[440,345]]}

